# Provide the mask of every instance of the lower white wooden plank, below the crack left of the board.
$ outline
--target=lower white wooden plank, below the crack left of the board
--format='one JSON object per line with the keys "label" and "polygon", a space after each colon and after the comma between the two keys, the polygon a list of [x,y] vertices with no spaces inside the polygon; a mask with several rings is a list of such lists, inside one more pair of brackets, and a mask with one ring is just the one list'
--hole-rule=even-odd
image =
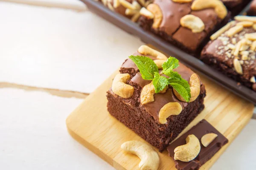
{"label": "lower white wooden plank, below the crack left of the board", "polygon": [[1,170],[113,170],[67,133],[82,99],[0,89]]}

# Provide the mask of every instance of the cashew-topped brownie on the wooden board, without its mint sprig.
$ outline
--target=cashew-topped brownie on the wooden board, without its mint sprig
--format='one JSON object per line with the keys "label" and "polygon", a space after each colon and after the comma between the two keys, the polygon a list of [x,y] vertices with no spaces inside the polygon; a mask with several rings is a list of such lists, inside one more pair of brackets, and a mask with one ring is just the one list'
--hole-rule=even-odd
{"label": "cashew-topped brownie on the wooden board, without its mint sprig", "polygon": [[[167,60],[164,54],[142,45],[133,55],[153,59],[157,65],[155,67],[159,69],[159,74],[155,74],[161,75],[163,81],[169,78],[176,82],[172,77],[162,74],[162,64]],[[177,81],[187,83],[191,91],[189,102],[178,94],[177,88],[173,88],[176,84],[166,85],[156,93],[154,79],[142,77],[134,60],[130,58],[122,64],[120,73],[113,79],[112,87],[107,92],[109,113],[160,151],[204,109],[204,84],[191,69],[180,62],[178,64],[172,73],[181,76]]]}

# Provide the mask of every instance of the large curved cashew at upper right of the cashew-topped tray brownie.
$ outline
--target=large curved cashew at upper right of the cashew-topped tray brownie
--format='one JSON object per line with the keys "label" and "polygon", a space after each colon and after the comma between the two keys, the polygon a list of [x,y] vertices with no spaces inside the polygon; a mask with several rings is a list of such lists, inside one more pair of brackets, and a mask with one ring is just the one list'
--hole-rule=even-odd
{"label": "large curved cashew at upper right of the cashew-topped tray brownie", "polygon": [[218,17],[224,19],[227,16],[227,8],[220,0],[195,0],[192,3],[192,10],[201,10],[206,8],[214,8]]}

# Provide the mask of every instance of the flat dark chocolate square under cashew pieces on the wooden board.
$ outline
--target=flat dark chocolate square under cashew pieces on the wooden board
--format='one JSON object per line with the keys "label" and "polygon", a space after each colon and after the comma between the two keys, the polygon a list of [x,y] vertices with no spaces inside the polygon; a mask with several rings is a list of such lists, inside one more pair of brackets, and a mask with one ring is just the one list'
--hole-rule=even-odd
{"label": "flat dark chocolate square under cashew pieces on the wooden board", "polygon": [[197,125],[192,127],[188,132],[180,136],[175,142],[169,145],[167,148],[169,152],[169,156],[172,156],[174,158],[174,150],[176,147],[186,144],[186,137],[189,135],[195,135],[198,140],[201,143],[201,138],[207,134],[207,133],[215,133],[218,136],[207,146],[204,147],[201,144],[201,150],[198,156],[189,162],[183,162],[180,160],[174,160],[175,161],[175,167],[178,170],[198,170],[199,167],[201,167],[204,163],[206,163],[209,159],[212,158],[212,156],[215,155],[215,153],[218,152],[218,150],[221,149],[225,144],[227,144],[228,139],[223,136],[218,130],[215,129],[211,124],[209,124],[206,120],[202,120]]}

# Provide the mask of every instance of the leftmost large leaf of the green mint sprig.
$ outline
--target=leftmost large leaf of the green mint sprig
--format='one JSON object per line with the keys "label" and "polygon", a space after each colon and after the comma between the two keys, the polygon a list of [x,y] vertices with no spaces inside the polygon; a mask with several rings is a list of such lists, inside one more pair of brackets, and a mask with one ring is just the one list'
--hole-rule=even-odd
{"label": "leftmost large leaf of the green mint sprig", "polygon": [[157,65],[151,58],[144,56],[129,56],[129,58],[137,65],[140,74],[145,80],[153,80],[154,72],[158,72]]}

